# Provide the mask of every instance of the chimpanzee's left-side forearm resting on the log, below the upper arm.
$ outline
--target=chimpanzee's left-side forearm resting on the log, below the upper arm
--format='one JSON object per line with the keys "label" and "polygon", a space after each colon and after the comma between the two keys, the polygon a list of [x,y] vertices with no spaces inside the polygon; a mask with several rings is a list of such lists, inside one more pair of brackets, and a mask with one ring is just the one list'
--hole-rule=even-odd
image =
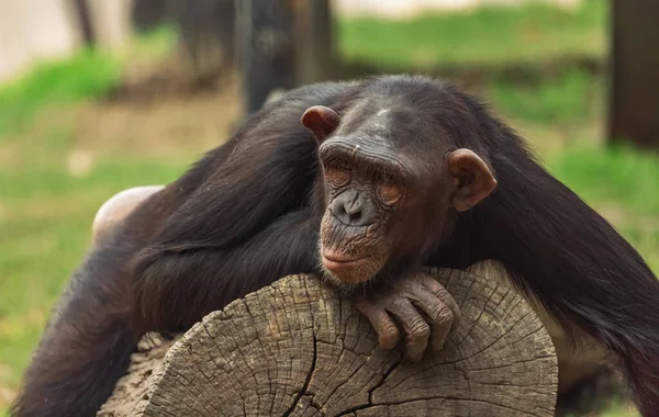
{"label": "chimpanzee's left-side forearm resting on the log, below the upper arm", "polygon": [[187,329],[206,314],[291,273],[312,272],[317,226],[304,210],[245,243],[187,248],[152,245],[134,262],[135,319],[142,331]]}

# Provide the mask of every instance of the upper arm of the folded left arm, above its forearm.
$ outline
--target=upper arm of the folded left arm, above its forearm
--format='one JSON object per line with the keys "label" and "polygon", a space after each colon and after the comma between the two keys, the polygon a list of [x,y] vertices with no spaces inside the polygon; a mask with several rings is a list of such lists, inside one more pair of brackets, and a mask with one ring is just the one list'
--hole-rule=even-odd
{"label": "upper arm of the folded left arm, above its forearm", "polygon": [[[286,137],[270,133],[268,140],[249,135],[200,184],[193,184],[194,191],[159,228],[159,245],[177,250],[233,248],[304,205],[316,172],[313,138],[305,132]],[[186,182],[192,182],[188,176],[171,185],[192,187]]]}

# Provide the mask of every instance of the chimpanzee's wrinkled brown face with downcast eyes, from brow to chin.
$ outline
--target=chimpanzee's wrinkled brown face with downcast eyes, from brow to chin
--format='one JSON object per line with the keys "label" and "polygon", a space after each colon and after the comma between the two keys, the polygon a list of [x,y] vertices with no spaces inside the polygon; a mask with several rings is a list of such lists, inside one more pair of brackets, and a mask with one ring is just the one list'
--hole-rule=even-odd
{"label": "chimpanzee's wrinkled brown face with downcast eyes, from brow to chin", "polygon": [[401,165],[355,142],[328,140],[319,149],[327,200],[320,251],[327,275],[343,286],[369,281],[384,267],[406,198]]}

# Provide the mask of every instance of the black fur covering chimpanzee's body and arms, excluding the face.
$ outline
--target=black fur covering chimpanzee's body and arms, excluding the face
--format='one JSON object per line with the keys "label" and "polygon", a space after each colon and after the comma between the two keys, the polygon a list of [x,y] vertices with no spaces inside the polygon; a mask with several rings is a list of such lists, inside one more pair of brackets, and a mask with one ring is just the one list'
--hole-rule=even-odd
{"label": "black fur covering chimpanzee's body and arms, excluding the face", "polygon": [[183,330],[286,274],[319,271],[324,185],[300,117],[321,104],[358,128],[373,102],[406,114],[393,137],[407,156],[432,150],[442,167],[439,150],[469,148],[499,182],[472,210],[437,213],[451,227],[418,236],[418,259],[407,261],[466,268],[501,260],[566,328],[617,353],[639,409],[654,415],[659,282],[647,264],[476,100],[451,83],[405,76],[291,91],[142,204],[74,274],[15,415],[93,415],[145,331]]}

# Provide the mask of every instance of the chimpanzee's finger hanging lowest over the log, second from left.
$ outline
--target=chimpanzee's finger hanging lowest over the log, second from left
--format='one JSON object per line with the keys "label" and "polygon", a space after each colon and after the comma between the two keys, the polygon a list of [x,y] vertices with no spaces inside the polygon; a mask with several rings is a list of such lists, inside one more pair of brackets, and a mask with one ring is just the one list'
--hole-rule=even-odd
{"label": "chimpanzee's finger hanging lowest over the log, second from left", "polygon": [[393,304],[387,305],[386,308],[396,316],[407,334],[405,336],[405,350],[410,360],[414,362],[421,360],[431,336],[431,327],[425,318],[410,301],[404,298],[396,300]]}

